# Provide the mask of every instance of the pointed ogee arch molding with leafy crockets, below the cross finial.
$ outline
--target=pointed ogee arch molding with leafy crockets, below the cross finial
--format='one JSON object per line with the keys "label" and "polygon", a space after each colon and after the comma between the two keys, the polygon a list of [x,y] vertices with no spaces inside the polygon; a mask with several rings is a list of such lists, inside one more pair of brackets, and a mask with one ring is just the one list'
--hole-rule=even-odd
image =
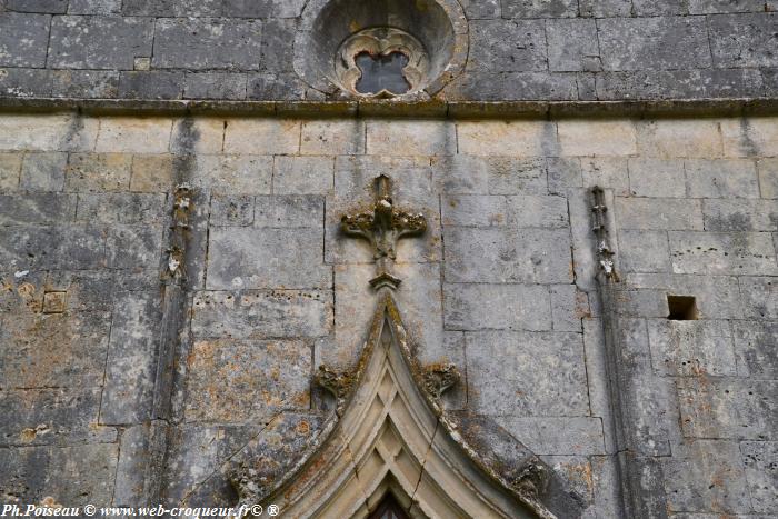
{"label": "pointed ogee arch molding with leafy crockets, below the cross finial", "polygon": [[240,505],[276,503],[281,517],[365,518],[391,492],[412,518],[578,517],[580,499],[485,417],[443,413],[451,366],[415,358],[389,288],[348,373],[317,377],[337,410],[320,440],[277,481],[251,460],[232,472]]}

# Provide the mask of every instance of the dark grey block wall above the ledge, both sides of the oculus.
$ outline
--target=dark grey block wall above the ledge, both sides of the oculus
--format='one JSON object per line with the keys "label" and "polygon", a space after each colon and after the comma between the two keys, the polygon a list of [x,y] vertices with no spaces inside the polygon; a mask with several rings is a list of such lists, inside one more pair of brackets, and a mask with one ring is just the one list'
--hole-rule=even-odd
{"label": "dark grey block wall above the ledge, both sides of the oculus", "polygon": [[[778,93],[775,0],[453,3],[466,18],[470,52],[463,73],[432,92],[440,99]],[[329,93],[311,88],[293,63],[295,39],[309,30],[306,17],[318,4],[323,2],[3,0],[0,97],[320,100]],[[375,6],[376,12],[386,9]],[[342,17],[349,16],[345,9]]]}

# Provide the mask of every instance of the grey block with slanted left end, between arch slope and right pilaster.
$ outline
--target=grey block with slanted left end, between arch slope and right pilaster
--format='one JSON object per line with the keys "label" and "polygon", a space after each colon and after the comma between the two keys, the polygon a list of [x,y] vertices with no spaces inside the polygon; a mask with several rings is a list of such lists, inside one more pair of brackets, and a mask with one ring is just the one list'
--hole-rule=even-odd
{"label": "grey block with slanted left end, between arch slope and right pilaster", "polygon": [[520,418],[495,420],[536,455],[602,455],[602,423],[599,418]]}

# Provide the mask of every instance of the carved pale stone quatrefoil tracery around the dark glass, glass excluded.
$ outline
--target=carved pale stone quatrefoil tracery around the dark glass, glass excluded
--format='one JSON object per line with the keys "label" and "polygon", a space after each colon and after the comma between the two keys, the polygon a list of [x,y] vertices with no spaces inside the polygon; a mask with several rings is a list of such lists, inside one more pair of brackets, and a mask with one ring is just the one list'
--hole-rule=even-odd
{"label": "carved pale stone quatrefoil tracery around the dark glass, glass excluded", "polygon": [[[357,81],[361,78],[362,71],[357,66],[357,57],[367,53],[371,57],[380,58],[388,57],[393,52],[399,52],[408,60],[402,68],[402,76],[408,82],[408,90],[405,92],[390,92],[382,89],[371,93],[359,92],[357,90]],[[391,27],[372,28],[359,31],[343,41],[338,50],[335,70],[341,87],[353,96],[379,99],[393,98],[415,93],[423,87],[422,83],[429,70],[429,58],[419,40],[406,31]]]}

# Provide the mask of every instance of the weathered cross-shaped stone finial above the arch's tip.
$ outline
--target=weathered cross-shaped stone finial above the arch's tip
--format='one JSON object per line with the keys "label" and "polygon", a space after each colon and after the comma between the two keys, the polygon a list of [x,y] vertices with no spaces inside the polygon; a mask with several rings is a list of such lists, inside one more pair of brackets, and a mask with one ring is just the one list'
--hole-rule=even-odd
{"label": "weathered cross-shaped stone finial above the arch's tip", "polygon": [[422,234],[427,230],[427,219],[420,212],[410,213],[395,208],[391,179],[386,174],[376,178],[375,190],[372,212],[343,214],[340,228],[347,236],[370,242],[378,265],[378,273],[370,280],[370,285],[376,290],[381,287],[395,289],[400,285],[400,279],[391,273],[391,265],[397,258],[397,242],[405,237]]}

